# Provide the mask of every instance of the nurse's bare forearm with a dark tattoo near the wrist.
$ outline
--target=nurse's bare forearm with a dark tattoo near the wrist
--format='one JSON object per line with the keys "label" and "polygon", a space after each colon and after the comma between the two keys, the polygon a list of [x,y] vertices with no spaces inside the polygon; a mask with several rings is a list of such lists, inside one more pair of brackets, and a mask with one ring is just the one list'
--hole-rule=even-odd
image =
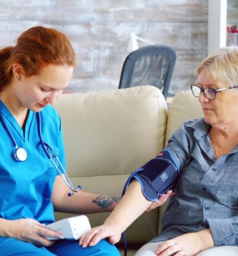
{"label": "nurse's bare forearm with a dark tattoo near the wrist", "polygon": [[112,211],[119,202],[117,197],[91,194],[84,191],[79,191],[69,197],[69,192],[71,191],[61,176],[57,176],[51,197],[55,211],[75,214],[100,213]]}

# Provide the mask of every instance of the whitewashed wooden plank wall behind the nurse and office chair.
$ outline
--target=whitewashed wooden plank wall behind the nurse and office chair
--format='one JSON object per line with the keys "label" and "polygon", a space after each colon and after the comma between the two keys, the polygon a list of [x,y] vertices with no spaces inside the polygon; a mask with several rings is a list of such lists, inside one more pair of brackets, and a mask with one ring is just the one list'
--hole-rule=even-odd
{"label": "whitewashed wooden plank wall behind the nurse and office chair", "polygon": [[[208,0],[0,0],[0,47],[35,25],[69,36],[78,65],[67,92],[118,87],[130,32],[169,45],[177,62],[169,92],[196,82],[207,53]],[[142,45],[140,45],[142,46]]]}

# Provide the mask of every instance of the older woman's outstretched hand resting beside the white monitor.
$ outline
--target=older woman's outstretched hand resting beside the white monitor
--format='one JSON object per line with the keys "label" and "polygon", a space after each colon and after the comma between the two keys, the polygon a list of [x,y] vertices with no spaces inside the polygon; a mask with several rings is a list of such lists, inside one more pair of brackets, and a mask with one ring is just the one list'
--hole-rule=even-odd
{"label": "older woman's outstretched hand resting beside the white monitor", "polygon": [[82,245],[82,247],[93,246],[106,237],[109,238],[111,244],[116,244],[120,240],[121,233],[122,230],[117,223],[114,223],[113,221],[105,221],[101,226],[93,228],[83,234],[79,244]]}

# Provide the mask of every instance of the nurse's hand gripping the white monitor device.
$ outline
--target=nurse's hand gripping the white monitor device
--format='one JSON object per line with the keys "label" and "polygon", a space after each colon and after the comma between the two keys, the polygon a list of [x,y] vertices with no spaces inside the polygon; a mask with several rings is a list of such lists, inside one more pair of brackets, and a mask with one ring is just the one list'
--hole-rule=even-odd
{"label": "nurse's hand gripping the white monitor device", "polygon": [[44,224],[32,219],[7,221],[6,236],[14,237],[25,242],[32,242],[32,244],[37,246],[54,244],[54,241],[49,241],[44,236],[57,237],[58,239],[64,238],[61,234],[46,229]]}

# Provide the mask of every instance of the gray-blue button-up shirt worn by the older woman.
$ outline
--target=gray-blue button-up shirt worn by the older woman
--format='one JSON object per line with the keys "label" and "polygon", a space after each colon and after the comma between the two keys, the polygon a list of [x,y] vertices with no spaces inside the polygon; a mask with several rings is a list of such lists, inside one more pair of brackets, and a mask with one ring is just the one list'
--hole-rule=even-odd
{"label": "gray-blue button-up shirt worn by the older woman", "polygon": [[163,231],[151,242],[210,228],[215,245],[238,245],[238,146],[216,160],[210,125],[185,122],[171,137],[170,150],[181,166],[176,195],[163,215]]}

